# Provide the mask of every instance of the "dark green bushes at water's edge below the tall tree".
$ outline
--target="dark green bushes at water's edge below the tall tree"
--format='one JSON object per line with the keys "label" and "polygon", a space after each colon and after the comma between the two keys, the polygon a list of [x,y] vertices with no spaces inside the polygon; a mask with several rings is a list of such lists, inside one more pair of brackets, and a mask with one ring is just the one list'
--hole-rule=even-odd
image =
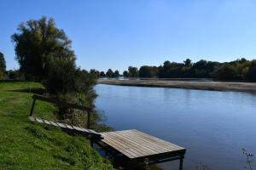
{"label": "dark green bushes at water's edge below the tall tree", "polygon": [[[77,69],[74,63],[68,59],[55,59],[49,67],[49,75],[44,86],[49,94],[54,94],[62,101],[94,107],[96,99],[96,92],[93,88],[96,84],[95,77],[94,73]],[[81,114],[78,111],[58,106],[57,116],[59,119],[69,119],[71,115],[78,116]],[[75,120],[71,121],[74,122]]]}

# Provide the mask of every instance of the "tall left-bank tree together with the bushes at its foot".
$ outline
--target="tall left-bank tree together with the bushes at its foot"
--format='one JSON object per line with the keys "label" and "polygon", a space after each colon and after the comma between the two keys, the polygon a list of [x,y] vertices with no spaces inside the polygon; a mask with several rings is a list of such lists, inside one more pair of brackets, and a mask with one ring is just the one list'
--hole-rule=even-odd
{"label": "tall left-bank tree together with the bushes at its foot", "polygon": [[[88,73],[77,68],[71,41],[55,26],[54,20],[46,17],[29,20],[21,23],[18,31],[12,39],[20,71],[26,79],[43,82],[47,92],[57,99],[94,107],[93,87],[99,71]],[[78,111],[56,106],[56,115],[62,120],[67,117],[70,120],[71,115],[81,116]]]}

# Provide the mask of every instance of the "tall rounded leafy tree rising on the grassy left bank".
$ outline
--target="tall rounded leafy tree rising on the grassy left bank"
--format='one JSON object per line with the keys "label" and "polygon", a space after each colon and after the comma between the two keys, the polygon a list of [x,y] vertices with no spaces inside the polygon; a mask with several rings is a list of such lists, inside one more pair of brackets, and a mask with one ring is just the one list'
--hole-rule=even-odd
{"label": "tall rounded leafy tree rising on the grassy left bank", "polygon": [[49,74],[50,62],[55,58],[75,61],[71,41],[65,32],[55,26],[53,19],[28,20],[21,23],[12,36],[20,71],[41,81]]}

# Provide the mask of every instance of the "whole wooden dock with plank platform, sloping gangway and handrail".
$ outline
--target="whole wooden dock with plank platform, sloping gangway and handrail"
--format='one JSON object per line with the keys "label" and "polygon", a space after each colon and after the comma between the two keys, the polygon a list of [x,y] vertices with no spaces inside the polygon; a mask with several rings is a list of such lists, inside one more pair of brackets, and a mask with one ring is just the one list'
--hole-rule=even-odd
{"label": "whole wooden dock with plank platform, sloping gangway and handrail", "polygon": [[[183,158],[186,149],[181,146],[155,138],[135,129],[96,133],[96,131],[90,129],[91,109],[89,107],[60,102],[56,99],[50,99],[37,94],[33,95],[32,99],[32,109],[29,117],[34,122],[61,127],[62,130],[67,131],[68,133],[83,135],[87,139],[90,139],[92,146],[93,144],[101,146],[102,149],[106,151],[107,155],[112,154],[115,157],[121,156],[122,161],[125,161],[128,165],[134,163],[144,163],[148,165],[180,160],[179,170],[183,169]],[[88,114],[88,128],[76,127],[60,122],[52,122],[33,116],[33,110],[37,99],[54,103],[55,105],[65,105],[68,108],[86,111]]]}

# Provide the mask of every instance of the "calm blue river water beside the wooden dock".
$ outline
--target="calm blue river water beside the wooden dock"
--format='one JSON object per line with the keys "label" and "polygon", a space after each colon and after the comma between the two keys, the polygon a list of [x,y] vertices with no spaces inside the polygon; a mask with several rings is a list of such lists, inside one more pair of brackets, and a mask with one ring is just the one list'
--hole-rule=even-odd
{"label": "calm blue river water beside the wooden dock", "polygon": [[[242,170],[246,163],[241,148],[256,154],[255,94],[113,85],[97,85],[96,92],[97,110],[106,116],[103,122],[187,148],[186,170],[199,163],[213,170]],[[177,164],[159,167],[177,169]]]}

